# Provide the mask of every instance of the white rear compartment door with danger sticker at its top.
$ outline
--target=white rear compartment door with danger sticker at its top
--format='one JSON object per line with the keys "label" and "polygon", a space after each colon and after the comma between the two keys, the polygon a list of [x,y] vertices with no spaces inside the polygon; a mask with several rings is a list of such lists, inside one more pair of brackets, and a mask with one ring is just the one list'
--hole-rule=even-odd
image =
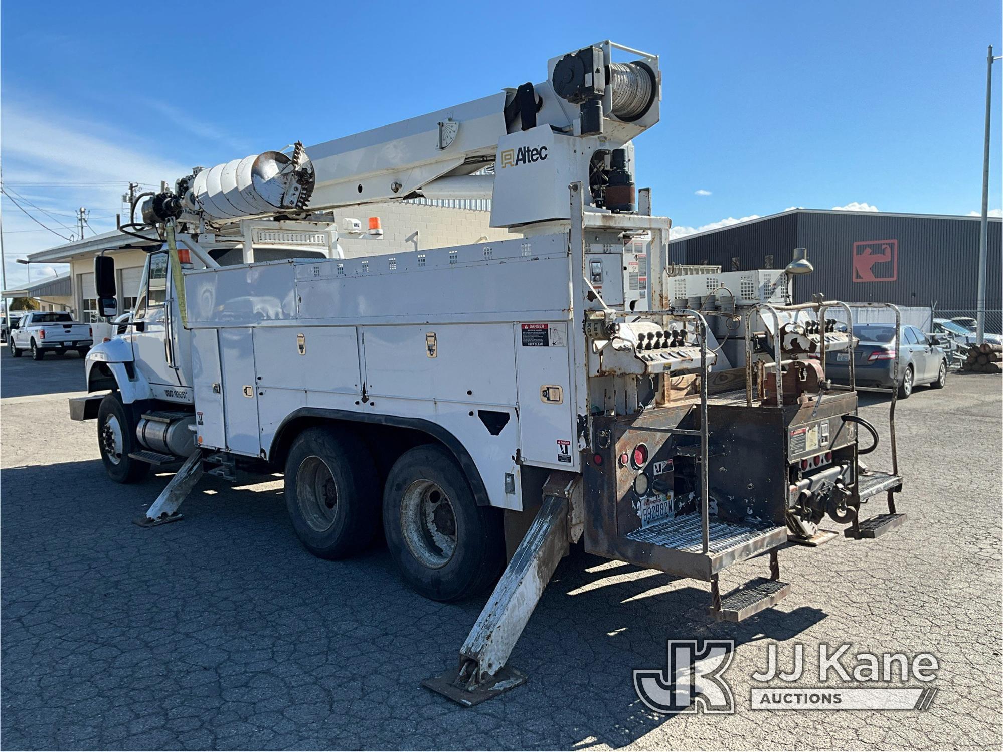
{"label": "white rear compartment door with danger sticker at its top", "polygon": [[532,465],[579,469],[568,323],[515,325],[520,449]]}

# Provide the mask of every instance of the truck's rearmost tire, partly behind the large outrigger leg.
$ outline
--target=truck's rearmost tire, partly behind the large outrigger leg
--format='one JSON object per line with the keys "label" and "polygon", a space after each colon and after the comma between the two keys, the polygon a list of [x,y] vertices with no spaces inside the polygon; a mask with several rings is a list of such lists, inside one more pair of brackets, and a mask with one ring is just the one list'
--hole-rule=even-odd
{"label": "truck's rearmost tire, partly behind the large outrigger leg", "polygon": [[409,449],[390,468],[383,531],[404,580],[432,601],[473,596],[505,566],[501,510],[478,506],[452,454],[434,444]]}

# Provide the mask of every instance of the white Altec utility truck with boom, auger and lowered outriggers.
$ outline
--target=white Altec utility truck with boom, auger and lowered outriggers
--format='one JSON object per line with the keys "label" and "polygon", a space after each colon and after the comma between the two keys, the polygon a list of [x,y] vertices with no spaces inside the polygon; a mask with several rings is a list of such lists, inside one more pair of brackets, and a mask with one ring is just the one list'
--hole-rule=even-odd
{"label": "white Altec utility truck with boom, auger and lowered outriggers", "polygon": [[[710,616],[738,621],[786,595],[777,549],[823,540],[824,515],[858,539],[900,524],[897,468],[859,462],[859,428],[878,434],[824,377],[826,350],[854,347],[825,314],[849,308],[787,305],[783,271],[667,269],[632,143],[660,83],[657,56],[601,42],[542,83],[140,197],[129,331],[87,357],[106,394],[70,403],[112,479],[183,462],[137,523],[180,519],[203,472],[278,468],[313,553],[350,555],[382,520],[422,595],[496,582],[426,682],[464,705],[525,680],[509,655],[579,540],[709,583]],[[325,211],[415,197],[490,198],[513,237],[342,258]],[[107,314],[112,264],[95,262]],[[890,513],[859,519],[880,493]],[[722,595],[762,554],[768,577]]]}

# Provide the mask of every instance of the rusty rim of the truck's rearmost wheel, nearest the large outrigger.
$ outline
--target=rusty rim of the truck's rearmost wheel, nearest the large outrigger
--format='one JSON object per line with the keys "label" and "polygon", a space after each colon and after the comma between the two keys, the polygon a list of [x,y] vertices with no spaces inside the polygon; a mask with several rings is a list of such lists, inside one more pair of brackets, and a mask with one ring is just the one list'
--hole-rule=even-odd
{"label": "rusty rim of the truck's rearmost wheel, nearest the large outrigger", "polygon": [[400,528],[411,554],[430,570],[445,567],[456,551],[456,512],[431,480],[415,480],[404,491]]}

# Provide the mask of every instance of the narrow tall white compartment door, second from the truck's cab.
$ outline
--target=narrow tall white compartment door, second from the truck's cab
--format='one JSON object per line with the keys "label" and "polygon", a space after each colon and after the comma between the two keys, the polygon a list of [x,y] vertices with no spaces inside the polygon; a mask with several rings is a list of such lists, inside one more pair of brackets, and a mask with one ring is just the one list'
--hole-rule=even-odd
{"label": "narrow tall white compartment door, second from the truck's cab", "polygon": [[251,331],[244,327],[220,329],[220,361],[227,448],[238,454],[258,456],[261,434]]}

